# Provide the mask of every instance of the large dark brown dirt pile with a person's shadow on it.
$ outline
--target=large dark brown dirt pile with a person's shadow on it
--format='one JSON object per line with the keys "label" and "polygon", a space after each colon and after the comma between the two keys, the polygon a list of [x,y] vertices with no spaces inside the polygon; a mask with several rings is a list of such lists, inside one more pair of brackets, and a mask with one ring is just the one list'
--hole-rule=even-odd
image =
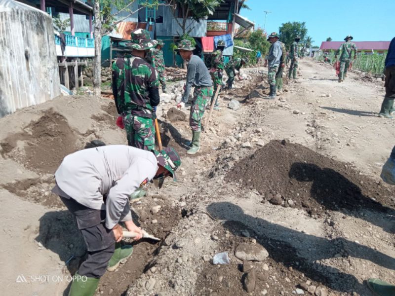
{"label": "large dark brown dirt pile with a person's shadow on it", "polygon": [[394,211],[392,193],[350,165],[287,140],[271,141],[239,161],[226,180],[256,189],[263,202],[304,208],[311,215],[326,210],[369,208]]}

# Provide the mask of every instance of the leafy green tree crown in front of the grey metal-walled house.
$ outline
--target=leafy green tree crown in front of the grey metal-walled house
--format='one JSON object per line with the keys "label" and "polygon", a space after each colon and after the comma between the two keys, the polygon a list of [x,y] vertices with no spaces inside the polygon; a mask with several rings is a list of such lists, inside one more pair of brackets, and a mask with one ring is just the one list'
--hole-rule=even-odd
{"label": "leafy green tree crown in front of the grey metal-walled house", "polygon": [[[189,35],[194,29],[191,22],[187,25],[187,20],[192,18],[197,22],[209,15],[214,14],[214,10],[223,0],[166,0],[172,6],[171,12],[177,24],[181,28],[181,32],[177,32],[179,36]],[[181,21],[179,20],[178,9],[181,11]]]}

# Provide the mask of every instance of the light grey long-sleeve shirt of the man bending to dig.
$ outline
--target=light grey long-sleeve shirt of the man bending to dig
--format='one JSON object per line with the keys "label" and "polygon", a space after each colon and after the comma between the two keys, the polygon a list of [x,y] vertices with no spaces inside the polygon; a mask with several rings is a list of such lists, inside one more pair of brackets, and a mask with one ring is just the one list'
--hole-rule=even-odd
{"label": "light grey long-sleeve shirt of the man bending to dig", "polygon": [[64,197],[91,209],[106,209],[106,227],[112,229],[119,221],[132,220],[130,194],[151,181],[157,171],[157,158],[151,151],[125,145],[83,149],[63,159],[53,192],[66,193]]}

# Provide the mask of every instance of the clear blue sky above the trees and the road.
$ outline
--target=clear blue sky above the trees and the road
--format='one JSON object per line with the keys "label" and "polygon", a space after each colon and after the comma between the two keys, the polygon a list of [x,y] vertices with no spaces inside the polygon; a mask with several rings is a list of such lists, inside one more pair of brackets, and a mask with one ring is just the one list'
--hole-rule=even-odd
{"label": "clear blue sky above the trees and the road", "polygon": [[352,35],[354,41],[391,41],[395,37],[395,0],[246,0],[251,10],[240,14],[264,26],[270,34],[278,32],[282,23],[306,22],[313,45],[331,37],[342,41]]}

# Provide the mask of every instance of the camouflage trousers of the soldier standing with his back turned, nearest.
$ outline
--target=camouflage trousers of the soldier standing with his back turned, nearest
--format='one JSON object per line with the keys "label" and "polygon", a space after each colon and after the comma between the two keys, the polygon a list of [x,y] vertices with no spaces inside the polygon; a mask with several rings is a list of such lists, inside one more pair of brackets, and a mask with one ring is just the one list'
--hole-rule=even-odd
{"label": "camouflage trousers of the soldier standing with his back turned, nearest", "polygon": [[153,118],[132,114],[123,116],[127,143],[129,146],[151,151],[155,148],[155,128]]}

